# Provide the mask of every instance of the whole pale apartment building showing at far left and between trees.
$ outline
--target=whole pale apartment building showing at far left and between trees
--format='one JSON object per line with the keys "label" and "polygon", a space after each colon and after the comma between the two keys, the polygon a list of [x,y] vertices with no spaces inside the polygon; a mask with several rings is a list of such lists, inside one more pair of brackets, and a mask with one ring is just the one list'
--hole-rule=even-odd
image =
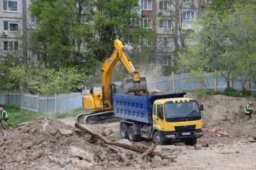
{"label": "whole pale apartment building showing at far left and between trees", "polygon": [[[31,0],[0,0],[0,47],[4,53],[21,50],[27,55],[27,39],[22,36],[27,37],[27,27],[35,22],[28,11],[30,3]],[[141,27],[157,35],[154,57],[158,64],[169,65],[173,62],[172,52],[183,43],[182,34],[190,32],[195,19],[211,0],[138,0],[138,3]]]}

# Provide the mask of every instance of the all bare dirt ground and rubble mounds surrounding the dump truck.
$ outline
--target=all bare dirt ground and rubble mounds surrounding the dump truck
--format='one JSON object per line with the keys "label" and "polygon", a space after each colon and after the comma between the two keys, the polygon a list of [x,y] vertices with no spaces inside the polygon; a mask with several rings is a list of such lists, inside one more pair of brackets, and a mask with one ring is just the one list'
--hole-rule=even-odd
{"label": "all bare dirt ground and rubble mounds surrounding the dump truck", "polygon": [[[1,130],[0,169],[255,169],[256,115],[243,114],[250,99],[186,94],[204,105],[204,135],[195,146],[175,143],[155,152],[175,162],[110,146],[75,128],[75,118],[40,117],[14,130]],[[255,100],[255,99],[254,99]],[[255,102],[256,103],[256,102]],[[119,122],[83,125],[109,140],[149,148],[151,140],[120,138]]]}

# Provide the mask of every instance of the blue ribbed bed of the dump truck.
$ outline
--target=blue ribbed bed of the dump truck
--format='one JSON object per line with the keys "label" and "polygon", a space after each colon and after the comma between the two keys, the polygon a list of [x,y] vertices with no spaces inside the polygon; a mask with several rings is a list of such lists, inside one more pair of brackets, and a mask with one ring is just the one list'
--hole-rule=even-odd
{"label": "blue ribbed bed of the dump truck", "polygon": [[172,94],[155,94],[133,96],[127,94],[113,94],[115,117],[138,122],[151,123],[151,107],[156,99],[184,97],[186,92]]}

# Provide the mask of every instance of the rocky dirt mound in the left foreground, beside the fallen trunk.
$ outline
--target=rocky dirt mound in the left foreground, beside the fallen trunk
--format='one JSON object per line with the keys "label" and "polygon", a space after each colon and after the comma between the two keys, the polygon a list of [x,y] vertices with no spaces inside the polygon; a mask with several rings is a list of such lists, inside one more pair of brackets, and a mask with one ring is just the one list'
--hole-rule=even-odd
{"label": "rocky dirt mound in the left foreground, beside the fallen trunk", "polygon": [[[109,146],[50,117],[1,133],[0,169],[119,169],[143,164],[135,162],[138,153]],[[96,133],[115,139],[110,128],[97,128]]]}

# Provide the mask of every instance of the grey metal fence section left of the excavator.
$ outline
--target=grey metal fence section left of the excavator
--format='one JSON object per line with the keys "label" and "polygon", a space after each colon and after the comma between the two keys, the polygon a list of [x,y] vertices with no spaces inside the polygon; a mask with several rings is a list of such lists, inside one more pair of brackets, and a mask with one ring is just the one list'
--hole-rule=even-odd
{"label": "grey metal fence section left of the excavator", "polygon": [[35,95],[23,94],[17,91],[6,91],[0,96],[0,104],[12,106],[19,104],[22,109],[33,112],[57,113],[82,107],[81,93],[56,94],[56,95]]}

